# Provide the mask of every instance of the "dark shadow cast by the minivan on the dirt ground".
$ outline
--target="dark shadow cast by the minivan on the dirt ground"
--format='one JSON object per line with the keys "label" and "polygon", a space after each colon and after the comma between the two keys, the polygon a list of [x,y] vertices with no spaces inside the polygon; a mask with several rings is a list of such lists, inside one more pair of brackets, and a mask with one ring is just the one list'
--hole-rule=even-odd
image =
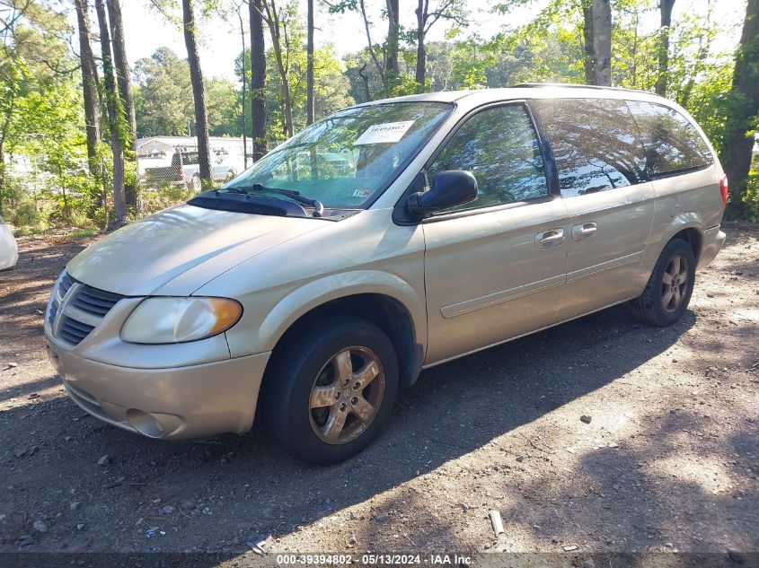
{"label": "dark shadow cast by the minivan on the dirt ground", "polygon": [[[276,537],[329,517],[605,386],[694,323],[688,311],[672,328],[649,328],[616,307],[423,371],[375,443],[331,468],[269,448],[258,427],[243,436],[151,441],[101,424],[62,396],[16,406],[0,418],[27,424],[2,459],[5,484],[18,497],[0,527],[3,547],[17,549],[42,518],[51,524],[39,538],[43,550],[60,546],[50,538],[60,526],[73,550],[239,552],[251,531]],[[98,465],[104,455],[108,463]],[[69,510],[75,499],[82,505]],[[97,542],[85,530],[71,533],[92,520],[108,529],[101,526]],[[154,527],[166,536],[146,541]]]}

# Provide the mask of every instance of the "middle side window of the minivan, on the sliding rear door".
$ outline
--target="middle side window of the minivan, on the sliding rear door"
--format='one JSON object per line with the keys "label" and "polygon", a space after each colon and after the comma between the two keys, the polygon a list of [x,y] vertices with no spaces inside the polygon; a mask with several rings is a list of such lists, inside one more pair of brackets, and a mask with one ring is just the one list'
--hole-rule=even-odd
{"label": "middle side window of the minivan, on the sliding rear door", "polygon": [[534,100],[548,136],[562,197],[646,179],[638,127],[624,100]]}

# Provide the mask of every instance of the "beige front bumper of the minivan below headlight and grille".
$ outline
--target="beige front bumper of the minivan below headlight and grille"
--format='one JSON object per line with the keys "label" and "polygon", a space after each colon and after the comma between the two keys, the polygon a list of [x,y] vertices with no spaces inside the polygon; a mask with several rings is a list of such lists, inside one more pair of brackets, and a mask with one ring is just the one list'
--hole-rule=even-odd
{"label": "beige front bumper of the minivan below headlight and grille", "polygon": [[52,341],[47,349],[68,396],[86,412],[166,440],[250,430],[270,354],[138,369],[92,361]]}

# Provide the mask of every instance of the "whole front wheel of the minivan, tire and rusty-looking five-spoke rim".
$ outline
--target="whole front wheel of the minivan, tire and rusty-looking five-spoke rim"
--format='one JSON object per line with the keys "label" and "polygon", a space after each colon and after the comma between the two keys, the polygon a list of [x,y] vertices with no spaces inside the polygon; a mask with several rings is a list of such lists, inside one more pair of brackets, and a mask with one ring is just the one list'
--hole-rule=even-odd
{"label": "whole front wheel of the minivan, tire and rusty-looking five-spoke rim", "polygon": [[374,439],[397,392],[398,360],[384,332],[365,319],[327,316],[274,355],[260,408],[273,440],[331,465]]}

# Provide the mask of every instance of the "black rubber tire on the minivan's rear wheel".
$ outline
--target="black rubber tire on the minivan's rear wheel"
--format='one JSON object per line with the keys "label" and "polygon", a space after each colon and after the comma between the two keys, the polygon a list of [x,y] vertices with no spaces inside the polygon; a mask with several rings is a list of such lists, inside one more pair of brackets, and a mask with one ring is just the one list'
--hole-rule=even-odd
{"label": "black rubber tire on the minivan's rear wheel", "polygon": [[[674,286],[667,284],[667,281],[672,280],[671,273],[675,268],[675,259],[679,259],[680,263],[685,263],[685,267],[679,268],[678,271],[687,275],[687,281],[684,284],[678,284],[676,293],[670,295]],[[633,316],[653,326],[669,326],[675,323],[688,309],[688,303],[693,294],[695,274],[696,258],[691,245],[682,239],[670,240],[661,251],[643,293],[630,302]],[[679,298],[676,302],[675,296]]]}

